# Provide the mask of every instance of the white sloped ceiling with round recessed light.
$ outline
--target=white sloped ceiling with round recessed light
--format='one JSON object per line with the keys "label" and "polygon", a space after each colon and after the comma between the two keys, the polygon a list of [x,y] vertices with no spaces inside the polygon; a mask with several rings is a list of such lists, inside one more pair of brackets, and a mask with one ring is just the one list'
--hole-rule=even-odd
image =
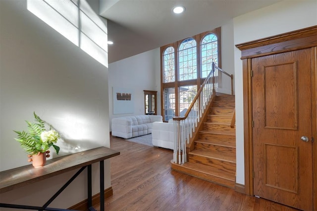
{"label": "white sloped ceiling with round recessed light", "polygon": [[[108,20],[108,62],[225,25],[232,18],[281,0],[100,0]],[[175,5],[185,6],[173,14]]]}

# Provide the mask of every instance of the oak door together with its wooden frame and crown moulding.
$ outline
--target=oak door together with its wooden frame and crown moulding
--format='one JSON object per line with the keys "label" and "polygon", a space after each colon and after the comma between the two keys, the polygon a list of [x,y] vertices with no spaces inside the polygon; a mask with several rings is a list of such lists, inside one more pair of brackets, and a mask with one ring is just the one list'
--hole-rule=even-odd
{"label": "oak door together with its wooden frame and crown moulding", "polygon": [[236,45],[243,60],[245,193],[317,208],[317,26]]}

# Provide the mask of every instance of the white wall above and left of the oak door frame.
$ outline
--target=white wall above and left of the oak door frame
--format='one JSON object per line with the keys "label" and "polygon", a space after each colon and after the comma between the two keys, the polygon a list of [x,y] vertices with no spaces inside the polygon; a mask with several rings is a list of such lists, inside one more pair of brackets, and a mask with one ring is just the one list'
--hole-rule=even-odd
{"label": "white wall above and left of the oak door frame", "polygon": [[[234,45],[317,25],[316,0],[285,0],[233,19]],[[236,93],[236,182],[244,181],[243,81],[241,52],[234,50]]]}

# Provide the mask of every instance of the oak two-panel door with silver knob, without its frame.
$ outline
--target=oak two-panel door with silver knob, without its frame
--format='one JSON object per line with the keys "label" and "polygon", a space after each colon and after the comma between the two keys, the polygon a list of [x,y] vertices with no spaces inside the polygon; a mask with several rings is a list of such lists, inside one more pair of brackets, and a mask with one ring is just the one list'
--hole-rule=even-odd
{"label": "oak two-panel door with silver knob, without its frame", "polygon": [[313,210],[311,50],[251,65],[254,195]]}

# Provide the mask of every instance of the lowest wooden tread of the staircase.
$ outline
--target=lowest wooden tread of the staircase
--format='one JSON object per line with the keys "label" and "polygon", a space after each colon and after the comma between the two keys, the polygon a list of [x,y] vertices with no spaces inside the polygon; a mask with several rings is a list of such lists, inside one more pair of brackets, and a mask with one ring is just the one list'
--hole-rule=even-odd
{"label": "lowest wooden tread of the staircase", "polygon": [[[176,163],[174,163],[176,164]],[[179,165],[179,164],[177,164]],[[204,164],[199,164],[199,163],[191,163],[191,162],[186,162],[184,164],[181,164],[182,167],[184,168],[190,168],[195,171],[198,171],[200,173],[208,174],[208,175],[214,175],[220,178],[225,178],[227,180],[230,180],[232,182],[235,182],[235,175],[230,174],[226,171],[223,171],[218,168],[214,168],[212,166],[204,165]]]}

